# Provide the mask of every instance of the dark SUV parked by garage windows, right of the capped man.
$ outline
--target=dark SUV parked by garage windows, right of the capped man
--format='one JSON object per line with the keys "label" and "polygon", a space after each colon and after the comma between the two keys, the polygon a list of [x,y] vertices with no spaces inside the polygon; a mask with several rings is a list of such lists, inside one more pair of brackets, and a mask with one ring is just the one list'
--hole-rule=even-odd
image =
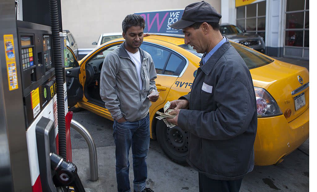
{"label": "dark SUV parked by garage windows, right of the capped man", "polygon": [[233,42],[248,46],[249,48],[262,53],[265,51],[263,37],[257,34],[246,33],[244,30],[239,29],[236,25],[223,23],[220,25],[220,32],[223,36],[228,37],[228,39]]}

